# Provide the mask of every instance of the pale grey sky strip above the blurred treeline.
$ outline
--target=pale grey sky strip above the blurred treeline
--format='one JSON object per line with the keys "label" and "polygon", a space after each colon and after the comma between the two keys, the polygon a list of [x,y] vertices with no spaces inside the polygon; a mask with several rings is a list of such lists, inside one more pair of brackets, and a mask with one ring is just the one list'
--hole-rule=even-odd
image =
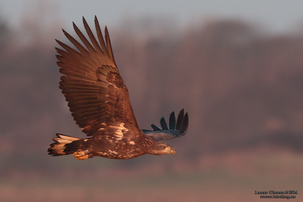
{"label": "pale grey sky strip above the blurred treeline", "polygon": [[[39,18],[41,13],[47,19],[45,25],[54,19],[60,19],[64,27],[71,25],[72,21],[81,23],[82,15],[86,19],[97,15],[99,21],[102,19],[106,25],[120,25],[125,18],[137,19],[144,16],[170,18],[180,26],[212,18],[240,18],[268,27],[274,32],[295,29],[303,22],[302,0],[2,0],[0,7],[2,17],[13,27],[19,26],[25,15]],[[37,15],[38,11],[41,12],[40,15]]]}

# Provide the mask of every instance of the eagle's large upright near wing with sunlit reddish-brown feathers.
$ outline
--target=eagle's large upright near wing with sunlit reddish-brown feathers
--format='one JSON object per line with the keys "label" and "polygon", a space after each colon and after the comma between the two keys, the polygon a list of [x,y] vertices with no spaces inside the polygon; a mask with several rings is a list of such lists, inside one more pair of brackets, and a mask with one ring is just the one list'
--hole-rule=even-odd
{"label": "eagle's large upright near wing with sunlit reddish-brown feathers", "polygon": [[120,132],[124,128],[126,131],[135,130],[141,133],[129,100],[128,89],[115,64],[107,28],[105,27],[105,45],[95,16],[99,45],[84,18],[83,24],[92,44],[73,23],[85,47],[63,30],[78,51],[58,40],[58,44],[66,51],[55,48],[60,54],[56,55],[59,60],[57,65],[64,75],[59,88],[68,101],[74,120],[88,136],[98,135],[99,130],[108,127],[118,128]]}

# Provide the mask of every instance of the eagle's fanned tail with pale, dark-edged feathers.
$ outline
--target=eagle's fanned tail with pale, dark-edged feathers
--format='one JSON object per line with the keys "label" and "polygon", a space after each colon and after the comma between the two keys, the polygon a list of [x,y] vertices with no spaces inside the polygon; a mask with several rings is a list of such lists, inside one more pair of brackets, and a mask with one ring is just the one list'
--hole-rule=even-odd
{"label": "eagle's fanned tail with pale, dark-edged feathers", "polygon": [[71,137],[58,133],[56,135],[57,137],[53,138],[55,143],[51,144],[51,147],[47,150],[49,152],[48,154],[52,156],[72,154],[77,149],[77,140],[82,140],[82,138]]}

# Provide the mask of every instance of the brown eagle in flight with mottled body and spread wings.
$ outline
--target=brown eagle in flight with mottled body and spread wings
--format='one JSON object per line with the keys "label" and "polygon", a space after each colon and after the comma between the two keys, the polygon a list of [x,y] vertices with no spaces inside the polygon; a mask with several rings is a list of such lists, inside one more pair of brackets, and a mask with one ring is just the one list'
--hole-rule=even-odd
{"label": "brown eagle in flight with mottled body and spread wings", "polygon": [[73,22],[75,32],[85,45],[63,31],[64,35],[78,49],[61,41],[65,50],[55,48],[57,65],[60,67],[62,90],[72,116],[88,138],[56,134],[55,143],[48,148],[48,154],[60,156],[73,154],[78,160],[94,156],[112,159],[130,159],[143,154],[176,154],[176,150],[161,140],[183,136],[188,128],[188,113],[182,109],[172,112],[169,124],[161,118],[161,128],[151,124],[153,130],[140,130],[121,75],[117,69],[108,30],[105,26],[105,41],[98,19],[95,28],[98,41],[83,17],[83,24],[91,42]]}

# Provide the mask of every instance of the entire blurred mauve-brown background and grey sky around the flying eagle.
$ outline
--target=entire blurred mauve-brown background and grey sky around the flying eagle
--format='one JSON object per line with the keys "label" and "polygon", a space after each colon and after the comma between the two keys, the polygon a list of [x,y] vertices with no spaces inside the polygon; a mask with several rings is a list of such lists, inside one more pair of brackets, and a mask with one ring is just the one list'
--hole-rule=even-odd
{"label": "entire blurred mauve-brown background and grey sky around the flying eagle", "polygon": [[[0,2],[1,201],[303,200],[303,1]],[[142,129],[189,114],[177,155],[51,157],[85,137],[58,88],[55,38],[107,25]],[[87,36],[87,35],[86,35]],[[268,194],[270,195],[270,194]],[[285,194],[290,195],[290,194]],[[285,201],[275,199],[275,201]]]}

